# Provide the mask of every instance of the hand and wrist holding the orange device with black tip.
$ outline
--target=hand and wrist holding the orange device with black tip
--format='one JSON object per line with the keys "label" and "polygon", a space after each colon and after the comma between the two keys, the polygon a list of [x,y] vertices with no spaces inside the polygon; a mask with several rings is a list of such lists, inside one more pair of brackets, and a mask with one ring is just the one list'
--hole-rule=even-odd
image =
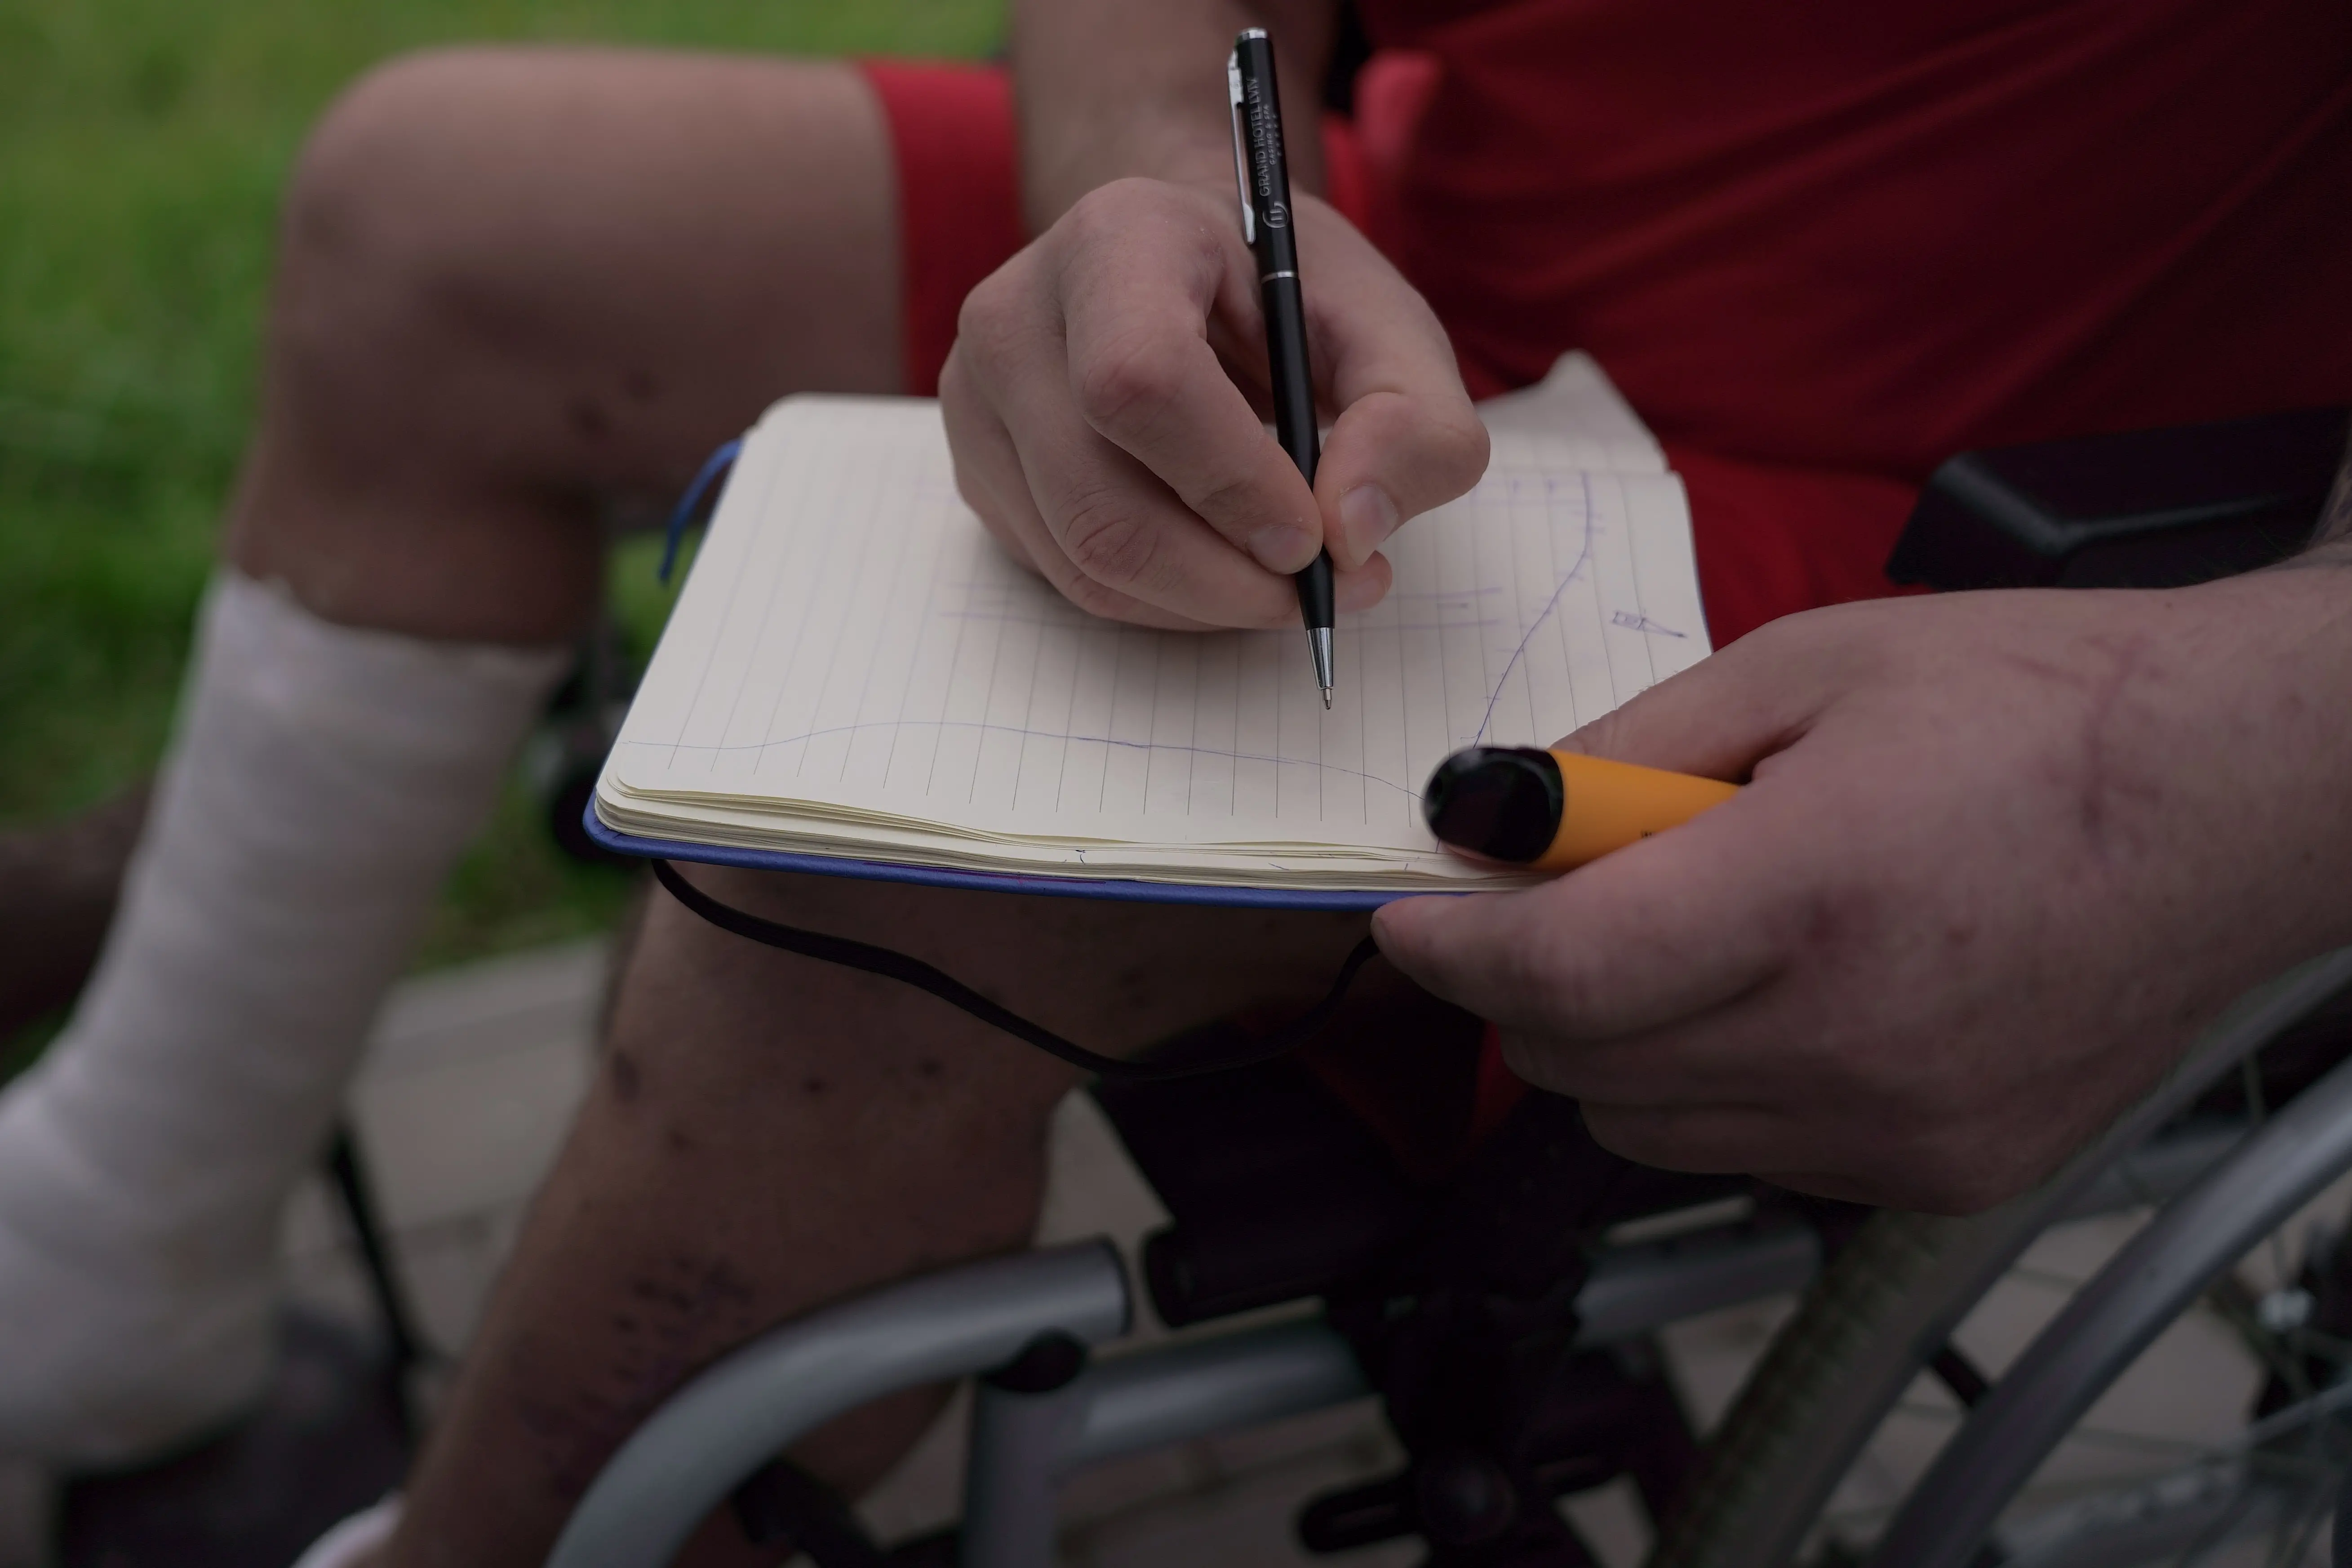
{"label": "hand and wrist holding the orange device with black tip", "polygon": [[1736,799],[1374,931],[1621,1154],[1994,1204],[2352,940],[2347,583],[1792,616],[1569,738]]}

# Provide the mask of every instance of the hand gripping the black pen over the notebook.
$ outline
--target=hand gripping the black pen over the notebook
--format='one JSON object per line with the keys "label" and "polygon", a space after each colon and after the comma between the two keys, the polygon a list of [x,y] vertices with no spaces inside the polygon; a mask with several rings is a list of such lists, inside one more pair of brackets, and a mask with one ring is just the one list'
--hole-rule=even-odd
{"label": "hand gripping the black pen over the notebook", "polygon": [[1296,623],[1289,574],[1327,545],[1338,609],[1367,609],[1388,592],[1381,541],[1484,473],[1437,317],[1345,219],[1296,209],[1336,414],[1312,491],[1263,425],[1258,275],[1230,183],[1103,186],[964,301],[938,386],[957,489],[1082,609]]}

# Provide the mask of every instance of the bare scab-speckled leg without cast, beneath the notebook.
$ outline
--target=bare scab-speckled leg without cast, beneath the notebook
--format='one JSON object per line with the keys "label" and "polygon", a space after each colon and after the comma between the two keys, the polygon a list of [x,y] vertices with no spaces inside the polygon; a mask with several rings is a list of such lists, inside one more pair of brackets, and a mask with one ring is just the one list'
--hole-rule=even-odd
{"label": "bare scab-speckled leg without cast, beneath the notebook", "polygon": [[[929,959],[1096,1048],[1305,1004],[1362,936],[1268,914],[696,872],[720,898]],[[1374,971],[1369,985],[1395,985]],[[1073,1074],[889,980],[779,954],[656,896],[604,1072],[522,1232],[409,1493],[400,1566],[543,1561],[691,1371],[826,1300],[1028,1241]],[[873,1483],[936,1403],[800,1455]],[[724,1523],[694,1561],[760,1561]]]}

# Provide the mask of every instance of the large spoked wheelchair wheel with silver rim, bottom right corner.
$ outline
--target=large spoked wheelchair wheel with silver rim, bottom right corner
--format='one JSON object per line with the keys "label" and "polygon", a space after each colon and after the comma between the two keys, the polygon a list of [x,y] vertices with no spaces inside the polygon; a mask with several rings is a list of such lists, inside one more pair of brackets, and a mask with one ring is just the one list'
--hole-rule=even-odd
{"label": "large spoked wheelchair wheel with silver rim, bottom right corner", "polygon": [[[2352,952],[2249,997],[2042,1192],[1875,1215],[1733,1401],[1651,1568],[2324,1563],[2352,1465],[2352,1065],[2279,1105],[2288,1044],[2253,1053],[2347,978]],[[2234,1147],[2164,1201],[2140,1185],[2150,1133],[2178,1145],[2216,1081],[2244,1084]]]}

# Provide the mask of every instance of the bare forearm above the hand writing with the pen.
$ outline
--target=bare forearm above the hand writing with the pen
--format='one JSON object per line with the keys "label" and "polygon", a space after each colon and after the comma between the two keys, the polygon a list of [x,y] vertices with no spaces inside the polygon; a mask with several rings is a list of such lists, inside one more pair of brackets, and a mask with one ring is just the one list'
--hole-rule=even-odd
{"label": "bare forearm above the hand writing with the pen", "polygon": [[1016,0],[1011,68],[1021,188],[1044,230],[1096,186],[1143,174],[1232,183],[1225,52],[1272,33],[1291,122],[1291,183],[1322,190],[1310,127],[1331,52],[1334,0]]}

